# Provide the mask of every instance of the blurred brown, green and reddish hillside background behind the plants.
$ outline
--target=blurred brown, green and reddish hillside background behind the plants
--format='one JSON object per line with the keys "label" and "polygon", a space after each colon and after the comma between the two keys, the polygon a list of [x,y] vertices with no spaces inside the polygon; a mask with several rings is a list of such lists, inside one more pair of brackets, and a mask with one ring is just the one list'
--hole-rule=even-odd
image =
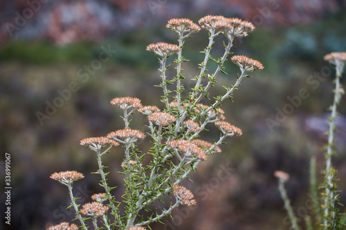
{"label": "blurred brown, green and reddish hillside background behind the plants", "polygon": [[[11,155],[11,224],[4,224],[5,196],[0,198],[0,229],[46,229],[73,219],[65,186],[49,179],[55,171],[75,170],[86,179],[75,183],[80,202],[102,192],[95,155],[79,145],[84,137],[122,128],[113,97],[138,97],[158,105],[157,57],[147,44],[176,44],[165,28],[168,19],[187,17],[197,23],[206,15],[252,21],[256,29],[237,39],[233,52],[259,60],[265,68],[245,79],[224,103],[226,120],[242,128],[183,182],[198,206],[181,207],[152,229],[289,229],[277,190],[275,170],[291,175],[286,188],[298,220],[313,213],[309,195],[309,161],[324,167],[328,107],[332,103],[334,67],[322,57],[346,51],[345,0],[2,0],[0,1],[0,152]],[[219,37],[213,57],[222,54]],[[185,77],[198,73],[208,34],[185,41]],[[173,59],[170,59],[173,61]],[[173,68],[172,68],[173,69]],[[234,84],[239,70],[226,62],[211,95]],[[172,75],[174,72],[171,72]],[[345,84],[345,79],[342,79]],[[186,88],[190,86],[186,84]],[[186,96],[185,94],[184,96]],[[340,104],[334,164],[346,175],[346,106]],[[206,102],[208,103],[208,102]],[[131,126],[145,131],[143,116]],[[219,132],[210,127],[206,140]],[[140,143],[147,149],[148,143]],[[109,182],[123,192],[122,151],[106,156]],[[1,190],[4,187],[1,179]],[[339,188],[346,191],[346,181]],[[346,204],[341,192],[340,202]]]}

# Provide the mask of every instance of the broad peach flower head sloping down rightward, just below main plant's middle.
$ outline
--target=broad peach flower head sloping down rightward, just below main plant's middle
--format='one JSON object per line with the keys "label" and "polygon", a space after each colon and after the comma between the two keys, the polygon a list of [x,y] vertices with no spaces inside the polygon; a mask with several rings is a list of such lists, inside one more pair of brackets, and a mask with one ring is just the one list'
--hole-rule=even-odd
{"label": "broad peach flower head sloping down rightward, just below main plant's middle", "polygon": [[207,159],[206,151],[204,151],[203,148],[200,148],[196,144],[192,144],[192,142],[189,142],[188,140],[172,140],[168,142],[168,145],[171,148],[178,148],[179,151],[181,151],[181,153],[186,156],[197,155],[197,158],[199,160]]}

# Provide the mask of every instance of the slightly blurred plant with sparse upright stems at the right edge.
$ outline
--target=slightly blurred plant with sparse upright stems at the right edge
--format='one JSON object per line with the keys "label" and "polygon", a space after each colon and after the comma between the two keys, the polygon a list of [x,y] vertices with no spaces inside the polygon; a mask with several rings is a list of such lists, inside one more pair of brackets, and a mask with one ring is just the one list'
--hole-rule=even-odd
{"label": "slightly blurred plant with sparse upright stems at the right edge", "polygon": [[[339,192],[338,191],[338,179],[336,178],[337,170],[331,164],[331,157],[334,155],[334,133],[336,131],[335,120],[337,116],[337,106],[340,103],[341,96],[345,93],[343,87],[340,84],[340,78],[342,77],[343,69],[346,62],[346,52],[331,52],[324,57],[325,61],[336,66],[336,79],[334,88],[334,101],[330,107],[331,115],[328,119],[329,129],[326,133],[328,141],[326,145],[325,153],[325,170],[323,171],[324,180],[320,186],[322,189],[320,196],[318,196],[318,186],[316,180],[316,159],[311,158],[310,164],[310,186],[311,195],[314,205],[314,214],[316,215],[316,224],[318,229],[323,230],[339,230],[343,229],[343,225],[346,223],[345,220],[341,220],[340,203],[339,203]],[[284,183],[289,180],[289,175],[282,171],[276,171],[275,176],[279,179],[279,190],[284,200],[284,206],[287,213],[289,214],[289,220],[291,221],[291,229],[299,230],[297,218],[293,213],[289,198],[286,195],[286,189]],[[307,215],[305,218],[306,229],[313,229],[311,217]]]}

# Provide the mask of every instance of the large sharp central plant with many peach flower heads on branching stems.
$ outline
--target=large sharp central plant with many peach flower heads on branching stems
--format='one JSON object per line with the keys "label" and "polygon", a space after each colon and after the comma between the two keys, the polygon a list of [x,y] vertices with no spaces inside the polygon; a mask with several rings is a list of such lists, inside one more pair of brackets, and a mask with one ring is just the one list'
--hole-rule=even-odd
{"label": "large sharp central plant with many peach flower heads on branching stems", "polygon": [[[190,19],[171,19],[167,28],[176,32],[179,45],[166,44],[163,42],[149,44],[147,50],[159,56],[160,68],[158,72],[162,79],[158,87],[163,89],[162,111],[158,106],[142,106],[140,99],[132,97],[116,97],[111,100],[113,106],[123,111],[122,120],[124,129],[113,131],[105,137],[86,138],[80,142],[82,146],[90,148],[96,154],[100,174],[100,185],[104,193],[92,196],[94,202],[82,205],[73,196],[73,183],[84,178],[82,173],[66,171],[53,173],[51,178],[66,185],[71,196],[71,207],[75,209],[76,218],[82,229],[86,230],[86,220],[91,219],[94,229],[145,229],[145,226],[160,221],[172,210],[180,205],[195,205],[194,195],[184,186],[180,185],[184,179],[189,179],[189,174],[197,169],[200,162],[206,160],[208,155],[220,153],[219,145],[224,144],[226,137],[242,135],[242,131],[225,122],[224,111],[220,108],[226,99],[233,98],[244,77],[250,77],[248,73],[262,70],[264,67],[259,61],[244,56],[233,56],[231,60],[239,66],[240,75],[235,77],[234,85],[224,86],[225,92],[211,99],[208,90],[212,88],[219,73],[226,74],[225,62],[230,55],[235,37],[246,37],[248,32],[254,29],[252,23],[237,18],[226,18],[222,16],[206,16],[199,20],[203,30],[209,35],[208,46],[203,50],[204,59],[199,64],[199,74],[192,79],[195,82],[187,98],[182,97],[185,88],[182,80],[185,79],[182,64],[185,59],[182,55],[185,39],[193,33],[199,32],[200,27]],[[210,51],[215,37],[224,35],[224,55],[218,58],[212,57]],[[167,76],[167,64],[169,56],[177,55],[174,63],[176,75]],[[210,72],[207,64],[212,61],[217,64],[215,71]],[[174,92],[167,87],[175,84]],[[201,104],[206,100],[208,105]],[[148,133],[130,127],[130,117],[139,112],[144,115],[149,127]],[[219,128],[221,135],[219,140],[213,143],[199,140],[198,137],[212,125]],[[149,138],[148,138],[149,137]],[[152,147],[147,153],[138,149],[138,141],[147,138]],[[102,156],[109,153],[112,147],[122,146],[125,151],[125,160],[122,162],[122,174],[124,175],[126,191],[122,200],[116,199],[107,180],[107,167],[102,162]],[[143,164],[143,157],[150,155],[149,164]],[[162,200],[165,195],[173,195],[174,200],[170,204],[163,204],[160,211],[152,211],[151,206],[156,200]],[[124,207],[124,212],[121,213]],[[111,215],[107,215],[107,211]],[[149,216],[149,217],[147,217]],[[147,218],[146,218],[147,217]],[[51,227],[50,229],[75,229],[73,224],[68,223]]]}

